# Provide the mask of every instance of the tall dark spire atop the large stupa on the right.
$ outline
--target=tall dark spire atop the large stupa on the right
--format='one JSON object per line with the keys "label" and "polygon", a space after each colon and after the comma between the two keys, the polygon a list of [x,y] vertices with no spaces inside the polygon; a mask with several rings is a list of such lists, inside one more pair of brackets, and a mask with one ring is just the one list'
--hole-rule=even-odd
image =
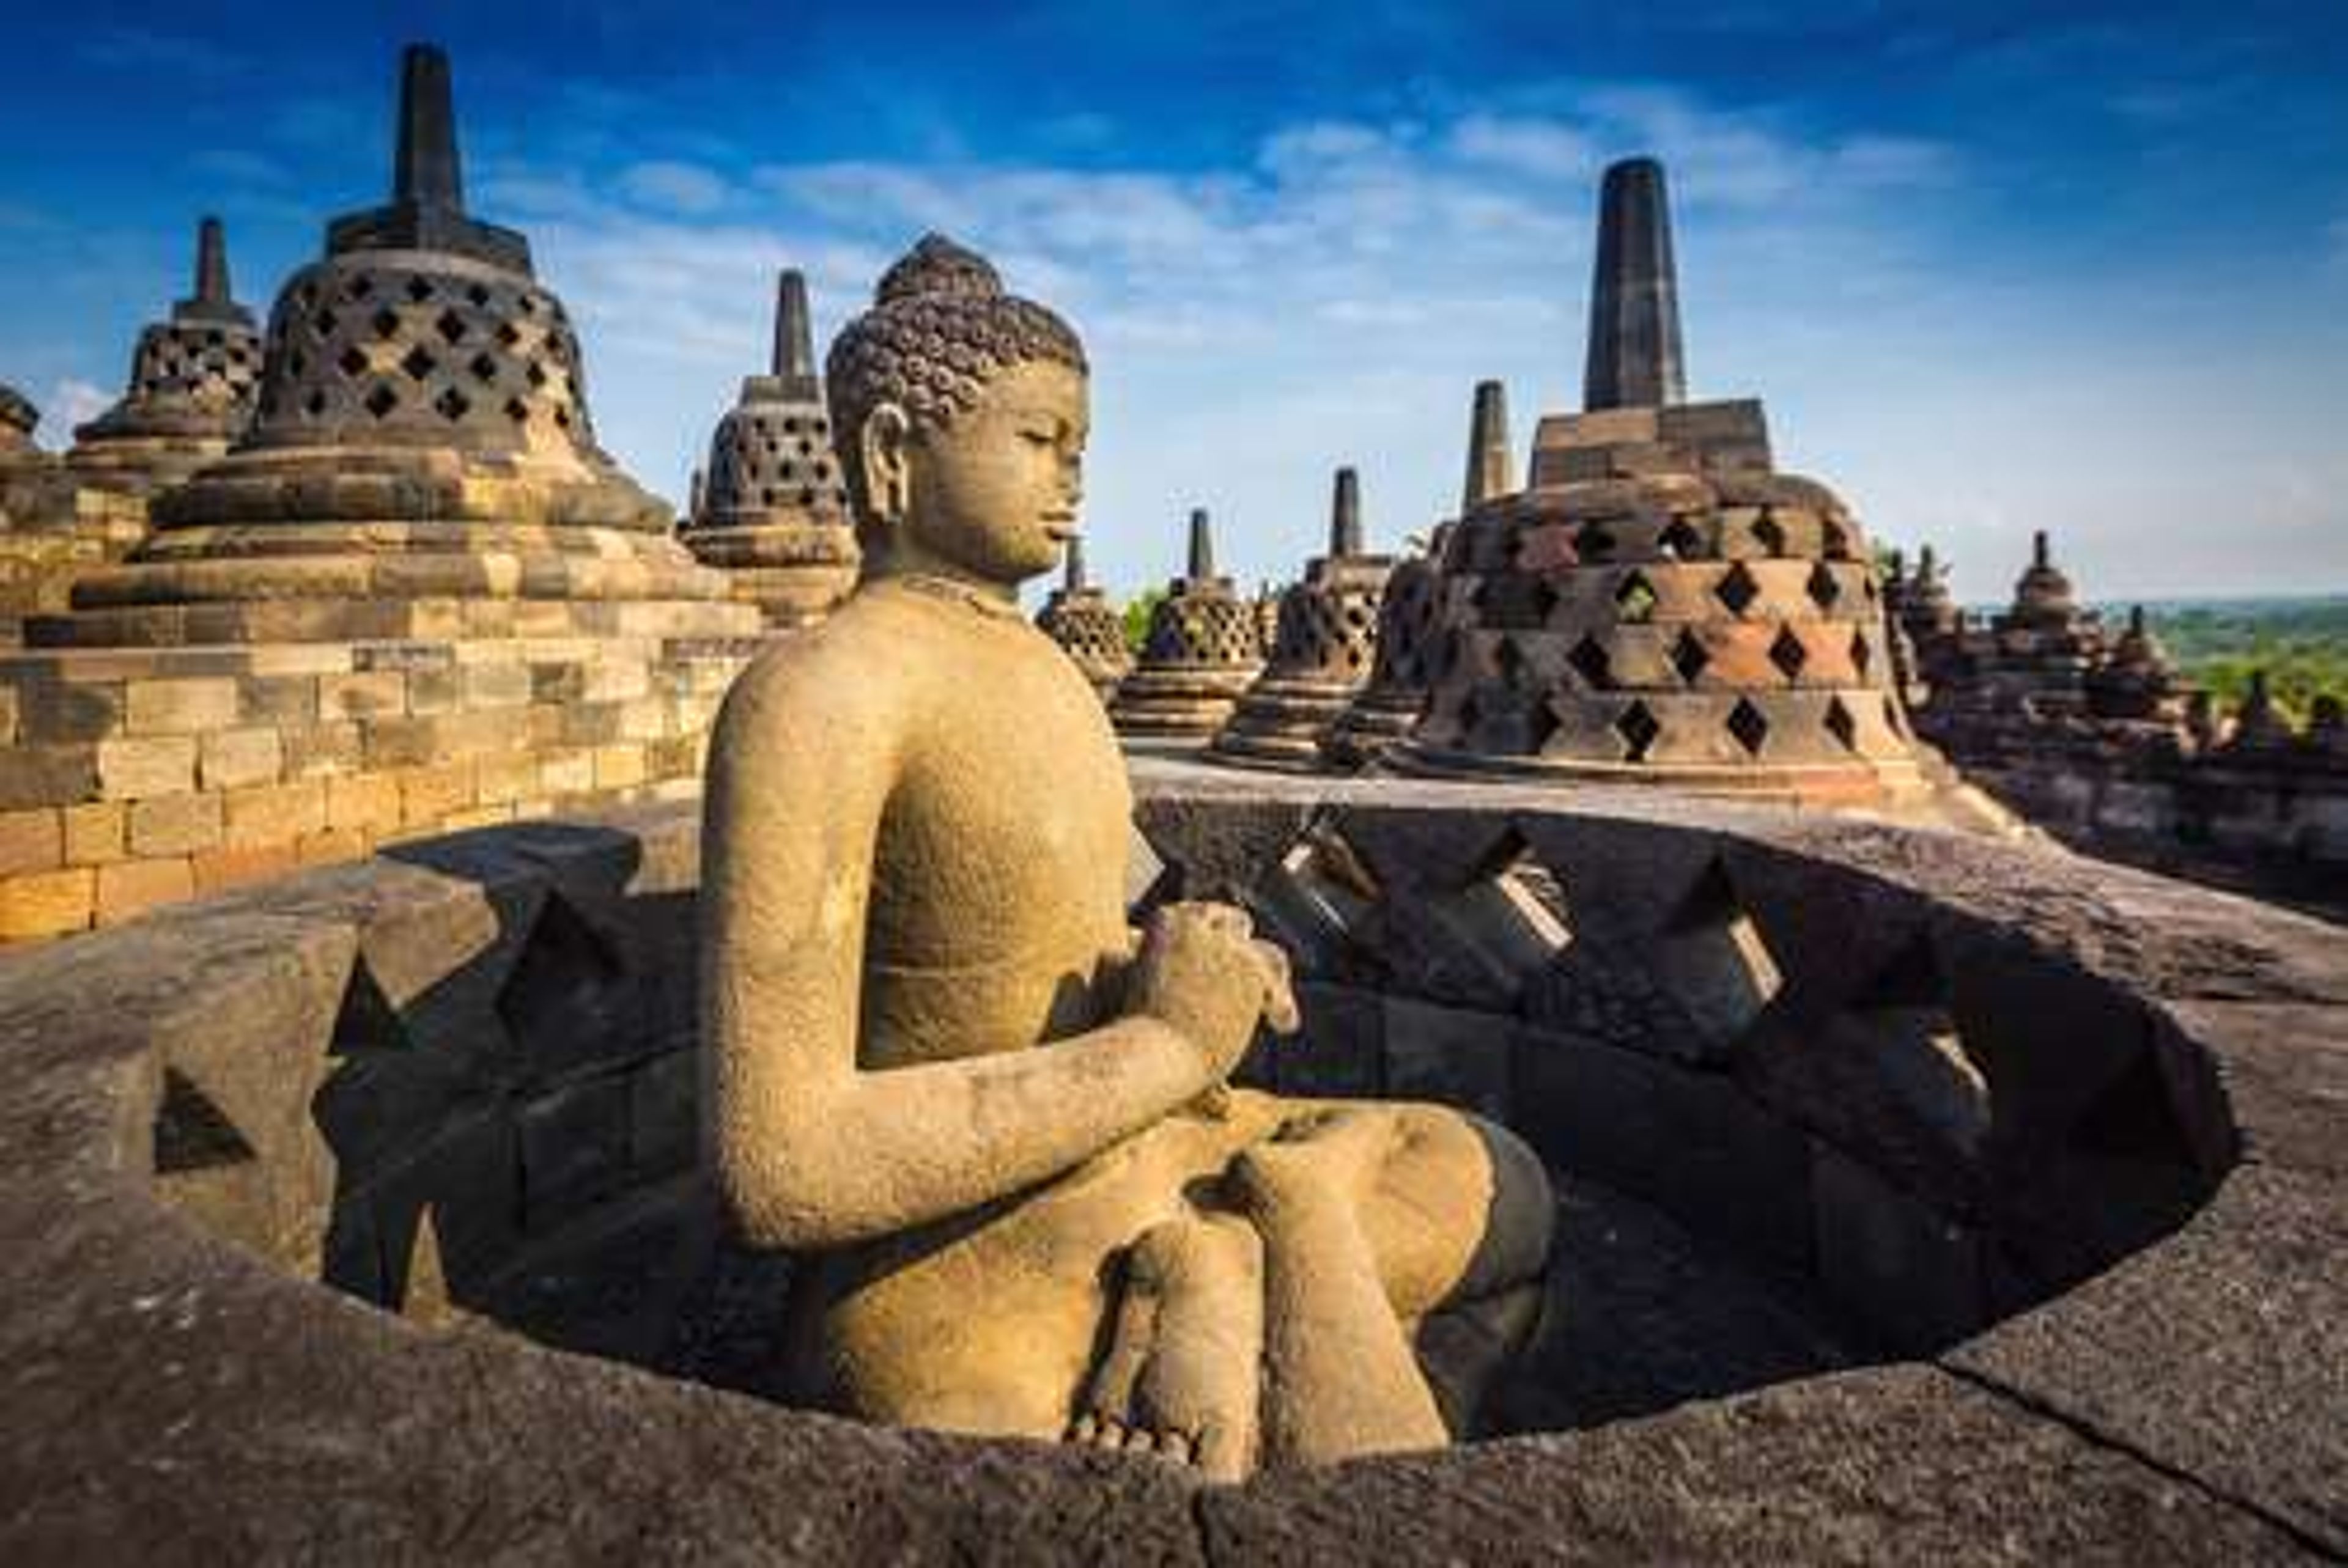
{"label": "tall dark spire atop the large stupa on the right", "polygon": [[1679,272],[1662,164],[1627,157],[1606,169],[1599,254],[1590,286],[1585,408],[1655,408],[1688,399],[1679,347]]}

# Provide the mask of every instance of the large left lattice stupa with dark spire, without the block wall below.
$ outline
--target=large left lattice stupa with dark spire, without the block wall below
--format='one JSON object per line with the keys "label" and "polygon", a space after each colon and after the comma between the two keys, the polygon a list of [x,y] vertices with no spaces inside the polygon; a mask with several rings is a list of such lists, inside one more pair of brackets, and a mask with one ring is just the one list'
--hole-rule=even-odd
{"label": "large left lattice stupa with dark spire, without the block wall below", "polygon": [[728,596],[594,444],[528,242],[465,211],[432,47],[404,59],[392,200],[329,223],[326,256],[286,279],[251,430],[153,521],[52,641],[683,629],[683,606]]}

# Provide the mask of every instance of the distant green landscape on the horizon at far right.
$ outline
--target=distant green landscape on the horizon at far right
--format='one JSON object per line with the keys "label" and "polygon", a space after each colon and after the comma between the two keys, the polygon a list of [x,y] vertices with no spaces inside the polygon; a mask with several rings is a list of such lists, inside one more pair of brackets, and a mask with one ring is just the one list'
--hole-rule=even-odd
{"label": "distant green landscape on the horizon at far right", "polygon": [[[2292,723],[2306,723],[2322,692],[2348,702],[2348,596],[2179,599],[2146,603],[2144,617],[2219,709],[2242,699],[2254,669],[2266,671],[2266,690]],[[2104,606],[2104,624],[2125,627],[2127,606]]]}

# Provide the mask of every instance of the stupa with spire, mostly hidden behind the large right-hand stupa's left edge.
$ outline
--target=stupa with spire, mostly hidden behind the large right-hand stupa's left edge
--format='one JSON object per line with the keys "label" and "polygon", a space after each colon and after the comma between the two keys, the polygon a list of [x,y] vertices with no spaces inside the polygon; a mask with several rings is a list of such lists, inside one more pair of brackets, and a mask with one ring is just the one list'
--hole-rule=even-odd
{"label": "stupa with spire, mostly hidden behind the large right-hand stupa's left edge", "polygon": [[[1477,383],[1468,425],[1460,516],[1510,491],[1514,491],[1514,467],[1507,446],[1507,390],[1498,380],[1484,380]],[[1428,657],[1435,650],[1442,610],[1437,556],[1456,526],[1458,519],[1437,523],[1428,549],[1404,556],[1385,577],[1385,594],[1378,601],[1378,653],[1369,683],[1322,735],[1322,758],[1341,772],[1367,768],[1418,723],[1418,709],[1428,702]]]}

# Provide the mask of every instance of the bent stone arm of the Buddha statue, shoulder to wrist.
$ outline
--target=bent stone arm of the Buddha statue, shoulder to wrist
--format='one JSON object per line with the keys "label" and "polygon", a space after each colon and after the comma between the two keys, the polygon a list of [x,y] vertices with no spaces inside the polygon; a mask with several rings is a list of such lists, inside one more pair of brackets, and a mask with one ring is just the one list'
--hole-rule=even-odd
{"label": "bent stone arm of the Buddha statue, shoulder to wrist", "polygon": [[836,690],[749,671],[709,765],[704,1127],[735,1223],[768,1246],[836,1246],[1017,1192],[1223,1070],[1158,1016],[1031,1052],[859,1070],[864,904],[897,739],[871,685],[864,702]]}

